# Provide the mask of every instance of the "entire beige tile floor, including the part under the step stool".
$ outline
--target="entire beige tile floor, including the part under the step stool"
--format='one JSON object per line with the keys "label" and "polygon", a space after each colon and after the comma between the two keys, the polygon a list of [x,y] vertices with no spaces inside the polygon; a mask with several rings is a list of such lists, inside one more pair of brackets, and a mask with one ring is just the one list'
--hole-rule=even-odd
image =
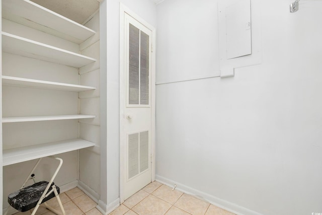
{"label": "entire beige tile floor, including the part under the step stool", "polygon": [[[102,215],[96,203],[82,190],[73,188],[59,194],[66,215]],[[59,210],[55,198],[47,203]],[[31,214],[32,211],[15,215]],[[53,212],[40,207],[36,215],[52,215]],[[159,182],[152,182],[123,202],[109,215],[234,215],[208,202],[187,195]]]}

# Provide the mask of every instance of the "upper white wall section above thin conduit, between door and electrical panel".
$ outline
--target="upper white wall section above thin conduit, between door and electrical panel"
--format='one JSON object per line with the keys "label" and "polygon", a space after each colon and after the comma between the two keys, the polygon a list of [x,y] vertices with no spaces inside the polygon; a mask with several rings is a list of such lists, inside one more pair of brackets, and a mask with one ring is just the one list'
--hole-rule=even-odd
{"label": "upper white wall section above thin conduit, between door and electrical panel", "polygon": [[157,5],[157,84],[219,75],[216,11],[216,1]]}

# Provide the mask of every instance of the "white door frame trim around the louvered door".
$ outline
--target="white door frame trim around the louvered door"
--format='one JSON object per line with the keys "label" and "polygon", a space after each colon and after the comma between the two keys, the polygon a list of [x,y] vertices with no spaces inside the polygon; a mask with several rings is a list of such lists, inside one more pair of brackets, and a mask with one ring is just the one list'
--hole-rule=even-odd
{"label": "white door frame trim around the louvered door", "polygon": [[151,181],[155,180],[155,28],[139,17],[137,14],[128,9],[124,4],[120,3],[120,203],[124,202],[124,185],[126,181],[126,138],[124,131],[124,107],[125,103],[125,14],[131,16],[142,25],[152,31],[152,62],[151,62]]}

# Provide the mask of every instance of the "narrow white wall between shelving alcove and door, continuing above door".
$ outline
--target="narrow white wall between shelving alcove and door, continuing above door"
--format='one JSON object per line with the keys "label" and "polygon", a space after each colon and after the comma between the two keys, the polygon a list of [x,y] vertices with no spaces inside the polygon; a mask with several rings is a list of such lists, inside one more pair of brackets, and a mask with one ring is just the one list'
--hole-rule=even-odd
{"label": "narrow white wall between shelving alcove and door, continuing above door", "polygon": [[[101,200],[106,203],[108,209],[111,209],[115,204],[119,203],[119,51],[120,51],[120,2],[126,7],[146,20],[151,25],[155,26],[156,23],[156,6],[150,0],[111,0],[103,1],[100,10],[105,10],[106,14],[101,14],[101,38],[102,45],[106,51],[101,49],[101,59],[107,59],[104,69],[101,67],[101,84],[105,83],[106,86],[101,86],[101,97],[106,96],[107,100],[101,102],[102,110],[101,121],[102,133],[101,144]],[[106,23],[103,23],[103,20]],[[107,44],[103,43],[103,38],[107,37]],[[104,92],[103,92],[104,91]],[[106,133],[105,133],[106,132]],[[105,177],[106,175],[106,177]],[[105,179],[105,178],[107,179]],[[118,202],[117,202],[118,201]],[[101,202],[101,203],[102,203]],[[101,208],[103,205],[99,205]]]}

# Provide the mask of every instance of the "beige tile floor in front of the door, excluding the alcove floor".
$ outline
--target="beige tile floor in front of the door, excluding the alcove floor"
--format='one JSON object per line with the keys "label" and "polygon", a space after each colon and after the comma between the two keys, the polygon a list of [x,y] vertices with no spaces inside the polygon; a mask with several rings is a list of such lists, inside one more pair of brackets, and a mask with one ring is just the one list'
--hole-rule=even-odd
{"label": "beige tile floor in front of the door, excluding the alcove floor", "polygon": [[152,182],[109,215],[235,215],[159,182]]}

